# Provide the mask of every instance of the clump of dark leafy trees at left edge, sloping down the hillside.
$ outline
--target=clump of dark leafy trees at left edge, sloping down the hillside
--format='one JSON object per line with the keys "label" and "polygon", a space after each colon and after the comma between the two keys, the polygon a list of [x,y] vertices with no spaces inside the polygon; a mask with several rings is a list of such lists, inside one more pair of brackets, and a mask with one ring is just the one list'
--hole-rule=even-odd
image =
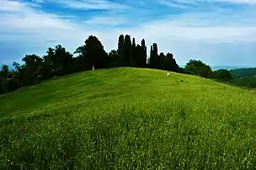
{"label": "clump of dark leafy trees at left edge, sloping down the hillside", "polygon": [[32,85],[47,80],[54,75],[67,75],[72,70],[72,54],[61,45],[49,48],[42,58],[35,54],[27,54],[22,59],[23,65],[13,62],[14,70],[4,65],[0,71],[0,93],[13,91],[24,85]]}

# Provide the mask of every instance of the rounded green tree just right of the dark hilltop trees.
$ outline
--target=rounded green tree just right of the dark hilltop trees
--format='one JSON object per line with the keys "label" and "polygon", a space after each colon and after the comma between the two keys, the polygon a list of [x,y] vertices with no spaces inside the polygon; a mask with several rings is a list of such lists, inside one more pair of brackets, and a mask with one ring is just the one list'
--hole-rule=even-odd
{"label": "rounded green tree just right of the dark hilltop trees", "polygon": [[191,75],[199,75],[205,78],[212,78],[211,67],[200,60],[190,59],[184,70]]}

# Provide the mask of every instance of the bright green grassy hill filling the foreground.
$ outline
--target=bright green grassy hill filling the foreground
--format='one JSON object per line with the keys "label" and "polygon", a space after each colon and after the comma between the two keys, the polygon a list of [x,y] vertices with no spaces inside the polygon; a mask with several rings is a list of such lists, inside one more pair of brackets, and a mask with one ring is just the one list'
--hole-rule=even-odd
{"label": "bright green grassy hill filling the foreground", "polygon": [[0,103],[0,169],[256,167],[256,92],[213,80],[94,70]]}

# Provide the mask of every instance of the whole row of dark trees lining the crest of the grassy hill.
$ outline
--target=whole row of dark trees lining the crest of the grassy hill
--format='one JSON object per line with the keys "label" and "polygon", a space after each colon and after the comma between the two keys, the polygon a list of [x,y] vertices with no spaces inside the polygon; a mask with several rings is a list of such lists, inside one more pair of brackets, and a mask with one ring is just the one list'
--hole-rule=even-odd
{"label": "whole row of dark trees lining the crest of the grassy hill", "polygon": [[27,54],[22,61],[24,64],[13,62],[13,70],[9,70],[7,65],[3,65],[0,71],[0,94],[17,90],[25,85],[40,83],[56,76],[114,67],[150,68],[225,81],[231,79],[228,71],[213,72],[209,65],[200,60],[189,60],[185,67],[181,68],[172,53],[158,54],[156,43],[151,45],[148,57],[145,39],[141,39],[140,44],[136,44],[136,40],[134,38],[131,40],[131,36],[127,34],[119,36],[118,49],[112,49],[109,53],[104,50],[103,44],[96,36],[90,35],[73,54],[58,44],[55,48],[48,48],[42,57],[36,54]]}

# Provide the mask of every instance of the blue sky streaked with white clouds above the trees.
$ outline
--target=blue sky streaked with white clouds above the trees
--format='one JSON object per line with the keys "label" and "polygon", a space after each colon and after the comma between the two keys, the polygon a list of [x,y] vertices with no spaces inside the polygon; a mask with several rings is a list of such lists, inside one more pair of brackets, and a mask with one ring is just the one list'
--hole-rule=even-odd
{"label": "blue sky streaked with white clouds above the trees", "polygon": [[256,0],[0,0],[0,64],[56,44],[73,52],[89,35],[109,52],[120,34],[178,64],[256,67]]}

